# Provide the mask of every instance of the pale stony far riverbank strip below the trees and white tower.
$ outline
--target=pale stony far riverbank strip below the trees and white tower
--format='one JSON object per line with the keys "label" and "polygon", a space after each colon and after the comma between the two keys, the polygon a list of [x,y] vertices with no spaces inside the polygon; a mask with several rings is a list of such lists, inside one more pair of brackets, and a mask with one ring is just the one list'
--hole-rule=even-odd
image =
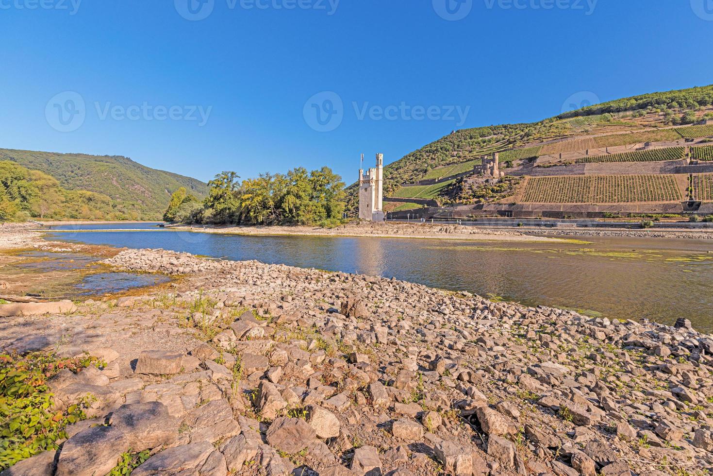
{"label": "pale stony far riverbank strip below the trees and white tower", "polygon": [[334,228],[314,226],[175,226],[172,230],[200,231],[248,236],[358,236],[371,238],[438,238],[476,241],[557,241],[553,238],[528,236],[519,231],[482,229],[471,226],[438,223],[397,223],[353,221]]}

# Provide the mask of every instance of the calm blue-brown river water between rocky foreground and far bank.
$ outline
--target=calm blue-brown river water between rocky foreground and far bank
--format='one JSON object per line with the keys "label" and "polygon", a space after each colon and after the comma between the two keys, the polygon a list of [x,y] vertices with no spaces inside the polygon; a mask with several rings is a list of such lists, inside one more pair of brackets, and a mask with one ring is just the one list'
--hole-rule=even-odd
{"label": "calm blue-brown river water between rocky foreground and far bank", "polygon": [[69,231],[49,233],[49,238],[396,277],[609,318],[672,324],[683,317],[699,330],[713,331],[713,240],[583,237],[590,243],[498,243],[236,236],[159,231],[146,224],[123,228],[153,229]]}

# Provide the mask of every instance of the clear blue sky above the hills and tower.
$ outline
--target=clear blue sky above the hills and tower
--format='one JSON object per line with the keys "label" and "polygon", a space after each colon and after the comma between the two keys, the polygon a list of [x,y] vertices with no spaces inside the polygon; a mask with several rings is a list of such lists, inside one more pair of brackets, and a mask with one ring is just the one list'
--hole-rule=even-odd
{"label": "clear blue sky above the hills and tower", "polygon": [[0,0],[0,147],[352,183],[362,152],[713,83],[713,0],[200,1]]}

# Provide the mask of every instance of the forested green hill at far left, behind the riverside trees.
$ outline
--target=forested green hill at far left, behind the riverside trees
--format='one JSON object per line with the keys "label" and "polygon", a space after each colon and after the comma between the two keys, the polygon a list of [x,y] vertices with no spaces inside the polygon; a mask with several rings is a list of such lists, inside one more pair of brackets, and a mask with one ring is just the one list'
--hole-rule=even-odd
{"label": "forested green hill at far left, behind the riverside trees", "polygon": [[160,220],[171,194],[180,187],[199,199],[207,193],[207,184],[195,178],[148,168],[123,156],[0,149],[0,161],[47,173],[68,191],[108,196],[114,215],[123,219]]}

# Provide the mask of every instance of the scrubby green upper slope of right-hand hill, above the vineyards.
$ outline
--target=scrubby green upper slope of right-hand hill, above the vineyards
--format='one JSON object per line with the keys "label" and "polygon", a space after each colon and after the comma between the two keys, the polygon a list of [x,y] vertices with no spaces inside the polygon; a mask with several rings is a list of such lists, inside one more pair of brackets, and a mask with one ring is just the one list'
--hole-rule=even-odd
{"label": "scrubby green upper slope of right-hand hill, above the vineyards", "polygon": [[[402,183],[430,178],[435,168],[456,166],[493,152],[501,153],[502,162],[522,160],[537,156],[543,143],[555,139],[627,131],[657,132],[660,127],[691,123],[712,104],[713,85],[710,85],[608,101],[535,123],[453,131],[385,166],[384,196],[395,196]],[[679,137],[679,133],[672,134]],[[356,190],[356,183],[347,188],[347,211],[352,214],[358,208]]]}

